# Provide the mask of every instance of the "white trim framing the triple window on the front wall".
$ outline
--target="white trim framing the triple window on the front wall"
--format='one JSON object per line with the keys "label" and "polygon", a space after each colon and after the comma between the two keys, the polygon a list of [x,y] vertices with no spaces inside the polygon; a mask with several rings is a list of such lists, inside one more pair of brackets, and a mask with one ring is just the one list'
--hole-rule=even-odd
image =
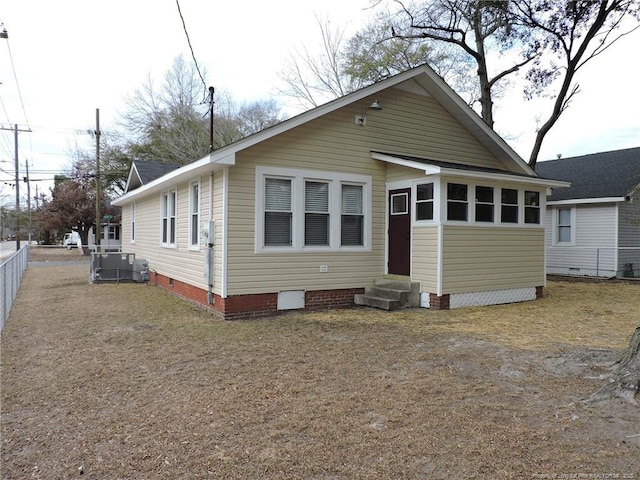
{"label": "white trim framing the triple window on the front wall", "polygon": [[[291,180],[292,231],[291,245],[264,245],[264,179],[266,177]],[[304,245],[304,182],[327,182],[329,184],[330,234],[328,246]],[[342,246],[340,225],[342,221],[341,186],[362,185],[362,211],[364,214],[363,245]],[[372,179],[369,175],[355,175],[341,172],[290,169],[280,167],[256,167],[255,183],[255,253],[316,253],[316,252],[364,252],[371,251],[371,191]]]}

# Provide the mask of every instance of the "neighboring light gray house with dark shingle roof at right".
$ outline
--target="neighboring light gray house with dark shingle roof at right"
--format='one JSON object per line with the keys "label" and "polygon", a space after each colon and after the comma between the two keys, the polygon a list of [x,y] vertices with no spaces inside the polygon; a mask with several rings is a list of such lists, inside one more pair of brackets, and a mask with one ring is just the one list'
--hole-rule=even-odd
{"label": "neighboring light gray house with dark shingle roof at right", "polygon": [[571,182],[547,197],[548,274],[640,276],[640,147],[540,162]]}

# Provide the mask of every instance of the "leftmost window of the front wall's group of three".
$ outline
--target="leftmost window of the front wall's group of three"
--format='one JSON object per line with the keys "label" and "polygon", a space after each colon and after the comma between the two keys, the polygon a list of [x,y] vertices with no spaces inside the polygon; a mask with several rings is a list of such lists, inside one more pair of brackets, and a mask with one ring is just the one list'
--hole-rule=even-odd
{"label": "leftmost window of the front wall's group of three", "polygon": [[264,245],[290,246],[292,240],[291,179],[264,179]]}

